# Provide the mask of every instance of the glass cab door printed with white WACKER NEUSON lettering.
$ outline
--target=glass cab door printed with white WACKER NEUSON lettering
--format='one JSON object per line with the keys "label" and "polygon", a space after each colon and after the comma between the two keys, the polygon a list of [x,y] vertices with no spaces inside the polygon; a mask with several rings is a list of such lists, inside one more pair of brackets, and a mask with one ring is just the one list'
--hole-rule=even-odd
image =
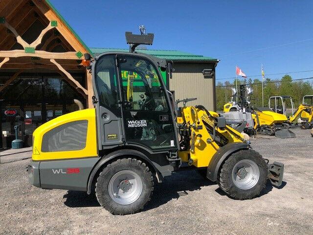
{"label": "glass cab door printed with white WACKER NEUSON lettering", "polygon": [[156,66],[135,55],[117,55],[117,61],[127,144],[152,151],[176,149],[173,118]]}

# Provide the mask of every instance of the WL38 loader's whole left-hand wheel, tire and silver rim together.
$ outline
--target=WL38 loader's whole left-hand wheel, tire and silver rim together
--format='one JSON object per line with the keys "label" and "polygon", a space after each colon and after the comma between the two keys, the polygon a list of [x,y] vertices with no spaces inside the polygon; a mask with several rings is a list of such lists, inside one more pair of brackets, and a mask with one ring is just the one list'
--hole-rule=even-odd
{"label": "WL38 loader's whole left-hand wheel, tire and silver rim together", "polygon": [[112,214],[133,214],[150,201],[153,176],[149,167],[133,158],[108,164],[96,183],[98,202]]}

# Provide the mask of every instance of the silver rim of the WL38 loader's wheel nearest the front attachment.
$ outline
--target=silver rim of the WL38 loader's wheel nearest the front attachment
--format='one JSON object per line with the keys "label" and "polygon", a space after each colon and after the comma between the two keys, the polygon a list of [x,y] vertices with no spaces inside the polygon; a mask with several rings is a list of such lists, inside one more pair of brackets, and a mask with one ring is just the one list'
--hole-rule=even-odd
{"label": "silver rim of the WL38 loader's wheel nearest the front attachment", "polygon": [[234,165],[231,178],[237,188],[253,188],[260,178],[259,166],[250,159],[243,159]]}

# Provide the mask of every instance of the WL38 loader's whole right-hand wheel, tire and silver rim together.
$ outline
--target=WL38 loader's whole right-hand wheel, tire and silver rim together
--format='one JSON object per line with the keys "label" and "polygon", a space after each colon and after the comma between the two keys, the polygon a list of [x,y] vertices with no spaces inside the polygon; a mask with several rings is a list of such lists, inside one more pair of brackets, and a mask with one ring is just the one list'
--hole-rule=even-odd
{"label": "WL38 loader's whole right-hand wheel, tire and silver rim together", "polygon": [[268,179],[268,165],[252,150],[231,154],[222,165],[217,183],[231,198],[246,200],[258,196]]}

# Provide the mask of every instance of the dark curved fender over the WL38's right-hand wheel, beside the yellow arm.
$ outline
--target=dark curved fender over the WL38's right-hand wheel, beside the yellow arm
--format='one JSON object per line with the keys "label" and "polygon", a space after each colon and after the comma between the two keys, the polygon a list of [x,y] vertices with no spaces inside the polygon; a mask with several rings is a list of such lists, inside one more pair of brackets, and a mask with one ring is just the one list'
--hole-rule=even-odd
{"label": "dark curved fender over the WL38's right-hand wheel, beside the yellow arm", "polygon": [[207,167],[206,177],[211,181],[216,181],[219,169],[222,163],[225,161],[225,159],[233,152],[237,152],[240,149],[249,149],[249,148],[250,148],[249,144],[244,142],[227,143],[226,145],[221,147],[219,150],[217,150],[217,152],[211,159]]}

